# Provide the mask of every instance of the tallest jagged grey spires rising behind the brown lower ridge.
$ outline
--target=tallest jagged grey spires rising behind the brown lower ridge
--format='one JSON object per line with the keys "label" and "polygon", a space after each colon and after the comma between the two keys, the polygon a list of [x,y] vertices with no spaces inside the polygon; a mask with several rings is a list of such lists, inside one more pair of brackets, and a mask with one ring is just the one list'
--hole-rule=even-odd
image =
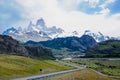
{"label": "tallest jagged grey spires rising behind the brown lower ridge", "polygon": [[35,25],[32,22],[29,23],[28,28],[26,29],[26,32],[31,32],[31,31],[44,32],[49,37],[55,34],[61,34],[62,32],[64,32],[63,29],[56,28],[56,26],[47,27],[42,18],[37,20]]}

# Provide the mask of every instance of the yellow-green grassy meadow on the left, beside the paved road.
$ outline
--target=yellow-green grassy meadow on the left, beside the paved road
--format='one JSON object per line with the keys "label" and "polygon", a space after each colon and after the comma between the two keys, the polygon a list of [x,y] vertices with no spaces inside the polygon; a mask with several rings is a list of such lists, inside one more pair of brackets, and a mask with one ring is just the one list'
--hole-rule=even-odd
{"label": "yellow-green grassy meadow on the left, beside the paved road", "polygon": [[[40,71],[42,69],[42,71]],[[53,60],[33,59],[15,55],[0,55],[0,79],[45,74],[71,69]]]}

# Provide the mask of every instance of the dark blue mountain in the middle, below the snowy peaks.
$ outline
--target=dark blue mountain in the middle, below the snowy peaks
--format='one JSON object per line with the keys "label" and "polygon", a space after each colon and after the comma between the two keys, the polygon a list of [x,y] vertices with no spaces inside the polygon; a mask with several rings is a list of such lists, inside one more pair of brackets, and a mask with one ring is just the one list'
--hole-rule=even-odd
{"label": "dark blue mountain in the middle, below the snowy peaks", "polygon": [[83,35],[82,37],[66,37],[66,38],[56,38],[49,41],[34,42],[28,41],[26,45],[42,45],[45,47],[61,50],[67,48],[67,51],[79,51],[84,52],[88,48],[96,44],[96,41],[88,35]]}

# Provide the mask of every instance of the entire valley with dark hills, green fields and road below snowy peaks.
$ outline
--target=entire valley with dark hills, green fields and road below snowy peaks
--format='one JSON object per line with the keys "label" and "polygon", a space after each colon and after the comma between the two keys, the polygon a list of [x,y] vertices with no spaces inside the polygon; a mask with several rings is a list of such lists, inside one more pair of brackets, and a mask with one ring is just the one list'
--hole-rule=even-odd
{"label": "entire valley with dark hills, green fields and road below snowy peaks", "polygon": [[119,80],[119,44],[89,35],[26,43],[0,35],[0,79]]}

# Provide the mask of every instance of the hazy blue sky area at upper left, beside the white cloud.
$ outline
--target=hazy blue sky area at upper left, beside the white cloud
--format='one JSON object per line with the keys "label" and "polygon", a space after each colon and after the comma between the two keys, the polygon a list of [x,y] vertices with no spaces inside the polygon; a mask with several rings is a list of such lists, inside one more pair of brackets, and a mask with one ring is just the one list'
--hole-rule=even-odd
{"label": "hazy blue sky area at upper left, beside the white cloud", "polygon": [[12,0],[0,0],[0,28],[14,25],[22,19],[21,8]]}

